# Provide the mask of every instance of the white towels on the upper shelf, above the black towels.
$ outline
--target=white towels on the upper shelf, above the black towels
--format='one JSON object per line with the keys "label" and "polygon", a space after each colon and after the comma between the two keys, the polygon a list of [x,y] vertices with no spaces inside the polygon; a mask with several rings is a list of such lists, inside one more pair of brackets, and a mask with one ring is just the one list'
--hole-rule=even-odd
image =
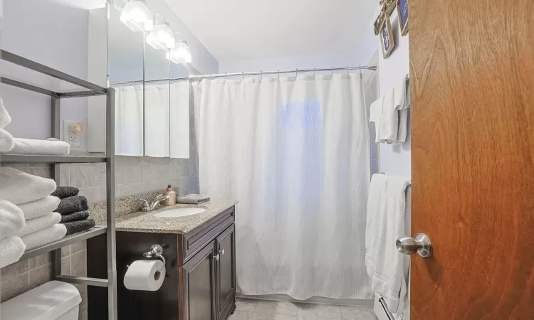
{"label": "white towels on the upper shelf, above the black towels", "polygon": [[0,154],[53,155],[66,156],[70,145],[58,139],[46,140],[14,138],[4,127],[11,122],[11,117],[0,97]]}

